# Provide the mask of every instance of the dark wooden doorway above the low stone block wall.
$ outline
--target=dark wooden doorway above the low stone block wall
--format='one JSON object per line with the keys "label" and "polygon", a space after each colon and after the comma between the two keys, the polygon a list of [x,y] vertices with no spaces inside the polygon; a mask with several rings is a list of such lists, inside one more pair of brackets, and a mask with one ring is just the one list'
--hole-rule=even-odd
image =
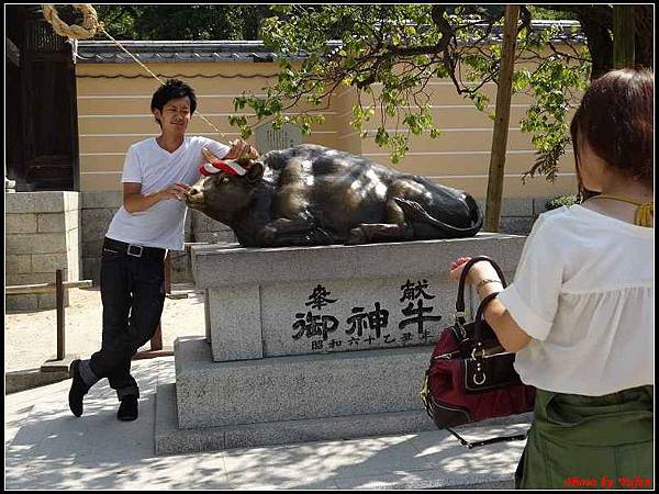
{"label": "dark wooden doorway above the low stone block wall", "polygon": [[[7,176],[16,191],[79,190],[78,112],[71,44],[40,5],[5,5]],[[18,58],[18,65],[16,65]]]}

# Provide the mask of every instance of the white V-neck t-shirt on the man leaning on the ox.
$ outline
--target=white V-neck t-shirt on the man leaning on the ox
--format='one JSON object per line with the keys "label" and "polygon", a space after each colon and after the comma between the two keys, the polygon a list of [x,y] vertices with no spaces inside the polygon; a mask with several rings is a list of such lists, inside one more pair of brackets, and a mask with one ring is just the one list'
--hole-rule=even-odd
{"label": "white V-neck t-shirt on the man leaning on the ox", "polygon": [[[192,186],[204,162],[202,147],[222,158],[228,146],[200,136],[188,136],[174,153],[158,146],[155,138],[133,144],[124,162],[122,182],[142,183],[143,195],[158,192],[176,182]],[[183,250],[187,206],[176,199],[157,202],[146,211],[129,213],[122,205],[114,214],[107,236],[146,247]]]}

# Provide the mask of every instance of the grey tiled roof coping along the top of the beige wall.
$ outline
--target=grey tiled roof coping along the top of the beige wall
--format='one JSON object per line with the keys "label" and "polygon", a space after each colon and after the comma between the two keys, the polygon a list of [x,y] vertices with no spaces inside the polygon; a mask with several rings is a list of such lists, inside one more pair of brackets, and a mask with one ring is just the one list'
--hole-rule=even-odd
{"label": "grey tiled roof coping along the top of the beige wall", "polygon": [[[561,27],[554,41],[582,42],[583,35],[577,21],[533,21],[535,30],[554,25]],[[579,30],[573,32],[573,30]],[[493,30],[489,41],[502,38],[502,30]],[[261,41],[121,41],[135,57],[145,63],[154,61],[275,61],[277,54],[267,49]],[[339,47],[339,41],[327,42]],[[78,41],[74,44],[78,64],[125,64],[133,59],[111,41]],[[305,57],[304,52],[297,59]]]}

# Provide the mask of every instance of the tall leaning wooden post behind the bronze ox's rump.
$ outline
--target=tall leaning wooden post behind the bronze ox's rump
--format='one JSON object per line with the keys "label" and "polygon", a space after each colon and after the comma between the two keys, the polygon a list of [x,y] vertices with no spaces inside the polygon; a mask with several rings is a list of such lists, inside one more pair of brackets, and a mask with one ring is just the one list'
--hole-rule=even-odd
{"label": "tall leaning wooden post behind the bronze ox's rump", "polygon": [[511,93],[515,46],[517,44],[517,19],[520,5],[505,5],[503,26],[503,48],[501,69],[496,88],[496,110],[492,133],[492,153],[490,154],[490,173],[488,176],[488,197],[485,200],[485,232],[499,232],[501,218],[501,198],[503,195],[503,168],[507,147],[507,132],[511,115]]}

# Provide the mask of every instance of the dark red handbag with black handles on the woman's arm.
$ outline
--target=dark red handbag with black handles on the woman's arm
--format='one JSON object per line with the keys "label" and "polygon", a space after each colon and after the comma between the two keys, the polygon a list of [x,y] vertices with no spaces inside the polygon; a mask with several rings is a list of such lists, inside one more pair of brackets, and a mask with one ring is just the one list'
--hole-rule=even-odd
{"label": "dark red handbag with black handles on the woman's arm", "polygon": [[526,435],[469,442],[450,427],[530,412],[535,402],[535,388],[523,384],[513,368],[515,353],[503,349],[484,321],[484,308],[496,293],[483,299],[473,322],[465,321],[465,280],[469,269],[482,260],[492,263],[504,288],[506,285],[501,268],[489,257],[474,257],[465,265],[458,288],[455,324],[444,329],[435,345],[421,392],[435,425],[447,429],[469,448],[525,439]]}

